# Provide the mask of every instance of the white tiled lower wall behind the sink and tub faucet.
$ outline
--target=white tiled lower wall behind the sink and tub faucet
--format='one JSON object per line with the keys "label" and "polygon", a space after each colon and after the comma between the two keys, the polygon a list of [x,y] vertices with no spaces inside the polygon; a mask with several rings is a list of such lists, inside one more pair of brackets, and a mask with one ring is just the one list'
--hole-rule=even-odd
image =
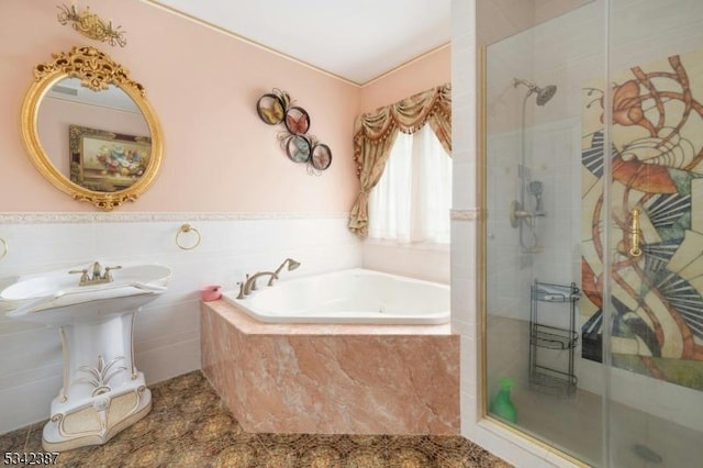
{"label": "white tiled lower wall behind the sink and tub faucet", "polygon": [[[275,269],[287,257],[302,263],[291,277],[360,267],[361,243],[346,222],[346,213],[0,213],[8,245],[0,287],[18,275],[93,260],[170,267],[168,292],[136,321],[136,364],[155,383],[201,367],[200,287],[235,288],[245,274]],[[191,250],[176,244],[186,223],[201,236]],[[180,241],[189,246],[197,234]],[[58,333],[0,312],[0,434],[47,419],[60,388]]]}

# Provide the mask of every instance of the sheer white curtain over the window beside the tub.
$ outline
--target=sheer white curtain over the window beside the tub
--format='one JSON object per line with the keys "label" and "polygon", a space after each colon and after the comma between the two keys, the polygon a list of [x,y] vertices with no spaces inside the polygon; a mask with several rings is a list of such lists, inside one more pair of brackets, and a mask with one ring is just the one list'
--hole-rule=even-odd
{"label": "sheer white curtain over the window beside the tub", "polygon": [[451,158],[429,125],[400,133],[369,193],[369,237],[449,243]]}

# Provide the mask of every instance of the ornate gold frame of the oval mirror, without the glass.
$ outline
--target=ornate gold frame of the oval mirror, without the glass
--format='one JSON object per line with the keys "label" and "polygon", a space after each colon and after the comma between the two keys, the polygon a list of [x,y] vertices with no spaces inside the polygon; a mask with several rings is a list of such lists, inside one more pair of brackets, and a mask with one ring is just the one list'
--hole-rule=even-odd
{"label": "ornate gold frame of the oval mirror, without the glass", "polygon": [[[72,47],[70,52],[53,54],[53,62],[34,67],[34,81],[22,104],[22,138],[32,163],[44,178],[75,200],[91,202],[105,211],[125,201],[135,201],[156,178],[163,156],[161,130],[145,97],[144,87],[132,80],[120,64],[94,47]],[[144,172],[129,187],[114,191],[91,190],[62,174],[46,154],[38,134],[40,104],[48,90],[64,78],[78,78],[81,86],[92,91],[105,90],[114,85],[129,94],[142,112],[150,133],[150,155]]]}

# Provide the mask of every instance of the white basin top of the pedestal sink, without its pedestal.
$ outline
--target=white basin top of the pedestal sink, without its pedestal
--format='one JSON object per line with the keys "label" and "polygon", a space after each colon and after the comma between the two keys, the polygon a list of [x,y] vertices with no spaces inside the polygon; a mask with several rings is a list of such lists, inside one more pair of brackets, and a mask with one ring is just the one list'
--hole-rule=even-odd
{"label": "white basin top of the pedestal sink, without its pedestal", "polygon": [[[80,269],[80,268],[79,268]],[[111,282],[78,286],[68,270],[20,277],[0,292],[8,317],[64,325],[134,312],[166,291],[171,270],[135,265],[112,270]]]}

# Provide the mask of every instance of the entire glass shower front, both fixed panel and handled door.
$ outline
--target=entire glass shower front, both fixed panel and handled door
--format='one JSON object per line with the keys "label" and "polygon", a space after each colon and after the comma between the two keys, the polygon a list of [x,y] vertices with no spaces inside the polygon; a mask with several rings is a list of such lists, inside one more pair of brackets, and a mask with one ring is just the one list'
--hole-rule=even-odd
{"label": "entire glass shower front, both fixed panel and handled door", "polygon": [[703,466],[703,1],[582,2],[484,73],[488,416],[590,466]]}

